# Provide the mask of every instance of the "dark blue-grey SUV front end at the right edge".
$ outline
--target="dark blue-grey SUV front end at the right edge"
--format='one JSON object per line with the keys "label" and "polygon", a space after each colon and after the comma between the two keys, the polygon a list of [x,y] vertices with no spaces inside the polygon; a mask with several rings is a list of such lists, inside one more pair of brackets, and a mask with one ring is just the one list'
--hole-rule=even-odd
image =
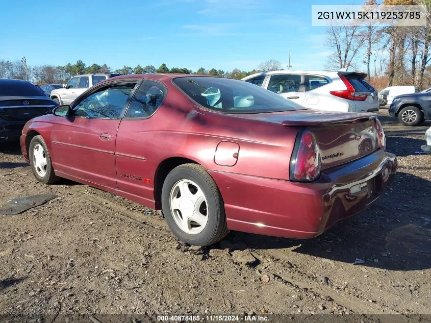
{"label": "dark blue-grey SUV front end at the right edge", "polygon": [[417,126],[424,120],[431,120],[431,92],[395,96],[389,114],[404,126]]}

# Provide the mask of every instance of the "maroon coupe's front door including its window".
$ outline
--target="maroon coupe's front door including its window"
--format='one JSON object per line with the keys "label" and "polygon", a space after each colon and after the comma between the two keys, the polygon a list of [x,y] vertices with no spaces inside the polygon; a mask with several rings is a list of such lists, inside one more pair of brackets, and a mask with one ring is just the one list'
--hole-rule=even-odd
{"label": "maroon coupe's front door including its window", "polygon": [[136,80],[94,88],[74,102],[67,117],[51,130],[54,168],[95,186],[116,188],[115,140]]}

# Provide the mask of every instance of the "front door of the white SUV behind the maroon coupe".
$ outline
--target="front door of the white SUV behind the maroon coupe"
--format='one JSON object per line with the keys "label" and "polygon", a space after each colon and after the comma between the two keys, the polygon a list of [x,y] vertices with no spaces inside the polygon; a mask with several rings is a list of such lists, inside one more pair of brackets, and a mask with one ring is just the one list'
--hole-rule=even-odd
{"label": "front door of the white SUV behind the maroon coupe", "polygon": [[303,83],[301,74],[271,74],[266,88],[284,98],[302,104],[306,97]]}

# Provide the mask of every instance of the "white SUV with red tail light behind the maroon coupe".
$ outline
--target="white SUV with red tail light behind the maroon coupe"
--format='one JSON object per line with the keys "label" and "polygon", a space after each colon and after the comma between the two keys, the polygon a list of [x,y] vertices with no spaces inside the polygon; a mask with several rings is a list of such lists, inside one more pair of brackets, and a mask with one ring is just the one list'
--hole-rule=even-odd
{"label": "white SUV with red tail light behind the maroon coupe", "polygon": [[378,112],[377,90],[366,73],[327,70],[277,70],[243,81],[278,93],[306,108],[342,112]]}

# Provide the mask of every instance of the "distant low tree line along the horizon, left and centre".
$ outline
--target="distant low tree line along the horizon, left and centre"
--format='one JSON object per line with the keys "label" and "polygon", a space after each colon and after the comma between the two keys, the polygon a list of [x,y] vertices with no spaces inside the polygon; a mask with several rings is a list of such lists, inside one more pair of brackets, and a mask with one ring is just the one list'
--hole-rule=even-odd
{"label": "distant low tree line along the horizon, left and centre", "polygon": [[172,67],[169,68],[165,63],[161,64],[158,68],[153,65],[146,65],[142,67],[137,65],[135,67],[124,65],[122,68],[112,70],[107,64],[92,64],[86,65],[83,60],[77,60],[74,64],[67,63],[63,66],[55,65],[34,65],[24,67],[22,61],[15,60],[0,60],[0,78],[20,79],[33,82],[35,84],[62,84],[70,80],[71,77],[80,74],[92,73],[119,73],[119,74],[145,74],[145,73],[182,73],[182,74],[203,74],[210,76],[218,76],[224,78],[232,78],[240,80],[253,73],[269,70],[282,69],[282,63],[276,60],[269,60],[261,63],[257,69],[250,71],[240,70],[234,68],[232,71],[224,71],[221,69],[206,69],[200,67],[196,71],[188,68]]}

